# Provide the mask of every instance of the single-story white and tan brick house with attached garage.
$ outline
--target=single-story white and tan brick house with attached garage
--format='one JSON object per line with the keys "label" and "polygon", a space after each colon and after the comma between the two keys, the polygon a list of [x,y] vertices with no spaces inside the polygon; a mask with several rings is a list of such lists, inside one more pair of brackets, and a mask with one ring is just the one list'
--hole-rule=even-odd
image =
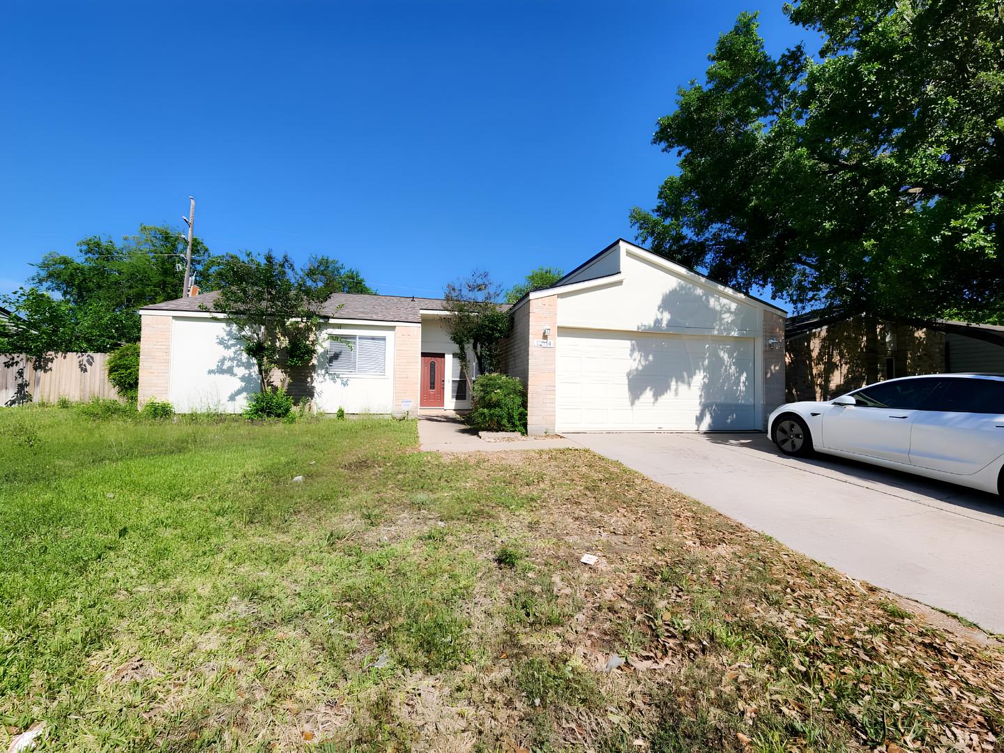
{"label": "single-story white and tan brick house with attached garage", "polygon": [[[226,321],[202,310],[214,297],[141,309],[141,403],[236,412],[257,391]],[[317,411],[470,408],[443,300],[336,293],[320,313],[353,346],[319,353]],[[624,240],[510,313],[503,370],[526,386],[531,434],[758,430],[784,400],[784,311]]]}

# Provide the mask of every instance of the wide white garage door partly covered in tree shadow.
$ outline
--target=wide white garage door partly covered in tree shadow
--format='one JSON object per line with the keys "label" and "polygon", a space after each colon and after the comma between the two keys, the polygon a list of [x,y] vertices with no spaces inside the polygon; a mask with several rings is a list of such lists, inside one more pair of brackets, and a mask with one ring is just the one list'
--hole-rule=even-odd
{"label": "wide white garage door partly covered in tree shadow", "polygon": [[755,429],[752,337],[558,329],[555,429]]}

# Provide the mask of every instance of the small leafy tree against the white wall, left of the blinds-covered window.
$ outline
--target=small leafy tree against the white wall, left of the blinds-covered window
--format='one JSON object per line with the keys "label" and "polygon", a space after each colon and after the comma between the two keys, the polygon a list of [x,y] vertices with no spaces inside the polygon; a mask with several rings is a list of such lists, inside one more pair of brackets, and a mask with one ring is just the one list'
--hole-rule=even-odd
{"label": "small leafy tree against the white wall, left of the blinds-covered window", "polygon": [[251,252],[214,257],[210,273],[220,286],[212,307],[243,341],[255,362],[261,392],[275,386],[272,372],[288,380],[290,371],[317,354],[321,304],[329,292],[322,279],[297,272],[290,258],[271,251],[259,258]]}

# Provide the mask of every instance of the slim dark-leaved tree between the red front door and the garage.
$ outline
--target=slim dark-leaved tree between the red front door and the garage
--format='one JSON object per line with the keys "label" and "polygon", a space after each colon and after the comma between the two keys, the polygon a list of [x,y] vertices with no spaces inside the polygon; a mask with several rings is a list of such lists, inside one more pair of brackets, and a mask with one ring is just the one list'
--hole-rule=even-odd
{"label": "slim dark-leaved tree between the red front door and the garage", "polygon": [[467,349],[474,351],[478,373],[498,371],[499,341],[509,334],[512,321],[500,307],[501,288],[484,271],[446,286],[443,297],[450,314],[450,340],[457,346],[461,368],[470,381]]}

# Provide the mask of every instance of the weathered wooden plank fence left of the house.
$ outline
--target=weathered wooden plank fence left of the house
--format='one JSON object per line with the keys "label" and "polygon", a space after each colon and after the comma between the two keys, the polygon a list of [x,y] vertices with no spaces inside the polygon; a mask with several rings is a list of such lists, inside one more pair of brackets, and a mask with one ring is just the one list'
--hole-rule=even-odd
{"label": "weathered wooden plank fence left of the house", "polygon": [[[11,359],[14,363],[5,365]],[[0,355],[0,406],[55,403],[59,398],[120,400],[108,382],[107,359],[107,353],[52,353],[42,363],[30,363],[23,355]]]}

